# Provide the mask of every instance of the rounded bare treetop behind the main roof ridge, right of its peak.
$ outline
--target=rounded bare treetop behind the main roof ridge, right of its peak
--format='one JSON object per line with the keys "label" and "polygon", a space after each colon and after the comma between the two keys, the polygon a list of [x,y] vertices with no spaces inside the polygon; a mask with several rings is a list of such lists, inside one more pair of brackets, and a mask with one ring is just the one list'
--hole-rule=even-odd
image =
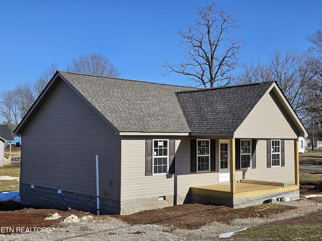
{"label": "rounded bare treetop behind the main roof ridge, right of its peak", "polygon": [[121,71],[109,58],[96,52],[73,58],[71,63],[67,64],[67,71],[115,78],[122,77]]}

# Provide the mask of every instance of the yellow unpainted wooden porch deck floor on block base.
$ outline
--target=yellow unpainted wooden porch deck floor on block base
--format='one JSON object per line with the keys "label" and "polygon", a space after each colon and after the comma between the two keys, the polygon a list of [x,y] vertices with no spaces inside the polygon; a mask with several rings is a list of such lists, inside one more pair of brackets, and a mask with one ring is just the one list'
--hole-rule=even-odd
{"label": "yellow unpainted wooden porch deck floor on block base", "polygon": [[[281,183],[282,184],[282,183]],[[215,185],[195,186],[190,187],[192,193],[206,194],[226,198],[244,198],[272,194],[278,192],[288,192],[299,190],[299,185],[288,184],[287,187],[281,185],[263,185],[252,183],[236,183],[236,192],[230,192],[230,183],[221,183]]]}

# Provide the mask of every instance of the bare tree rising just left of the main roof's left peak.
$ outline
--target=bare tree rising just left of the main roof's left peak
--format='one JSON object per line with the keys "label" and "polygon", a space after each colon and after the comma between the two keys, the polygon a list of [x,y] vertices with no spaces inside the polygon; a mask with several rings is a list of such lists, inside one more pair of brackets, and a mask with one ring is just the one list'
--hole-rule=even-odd
{"label": "bare tree rising just left of the main roof's left peak", "polygon": [[52,76],[56,73],[58,70],[58,65],[57,64],[51,64],[45,70],[35,78],[32,88],[35,93],[35,97],[39,96],[42,92],[43,89],[46,87],[48,82],[51,80]]}

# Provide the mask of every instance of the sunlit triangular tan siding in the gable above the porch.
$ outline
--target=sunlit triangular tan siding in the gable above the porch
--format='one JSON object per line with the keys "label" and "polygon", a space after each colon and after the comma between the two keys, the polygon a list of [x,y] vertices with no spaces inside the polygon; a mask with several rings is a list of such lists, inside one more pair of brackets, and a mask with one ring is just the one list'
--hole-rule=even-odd
{"label": "sunlit triangular tan siding in the gable above the porch", "polygon": [[235,138],[297,138],[298,131],[270,92],[235,131]]}

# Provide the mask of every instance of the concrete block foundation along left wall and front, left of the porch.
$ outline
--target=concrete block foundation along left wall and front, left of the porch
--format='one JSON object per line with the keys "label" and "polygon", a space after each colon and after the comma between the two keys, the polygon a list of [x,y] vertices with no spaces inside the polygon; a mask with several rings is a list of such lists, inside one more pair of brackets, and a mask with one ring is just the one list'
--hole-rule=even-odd
{"label": "concrete block foundation along left wall and front, left of the porch", "polygon": [[[162,198],[161,198],[162,199]],[[57,193],[57,189],[36,186],[33,188],[28,183],[20,184],[20,203],[26,206],[36,206],[53,209],[82,210],[96,214],[96,196],[84,195],[75,192]],[[182,195],[164,196],[164,200],[159,197],[143,198],[128,201],[115,201],[106,198],[99,198],[100,214],[121,214],[128,215],[144,210],[161,209],[177,204],[190,203],[190,193]]]}

